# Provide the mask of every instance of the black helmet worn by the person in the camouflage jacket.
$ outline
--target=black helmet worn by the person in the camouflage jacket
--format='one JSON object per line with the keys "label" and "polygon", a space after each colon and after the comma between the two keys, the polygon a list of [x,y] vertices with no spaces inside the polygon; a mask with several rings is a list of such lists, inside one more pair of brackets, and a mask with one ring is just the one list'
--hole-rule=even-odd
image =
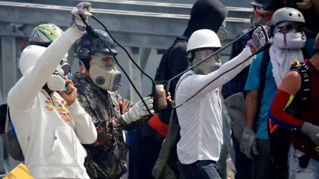
{"label": "black helmet worn by the person in the camouflage jacket", "polygon": [[[95,29],[95,32],[104,40],[109,46],[114,55],[118,54],[115,50],[115,43],[107,32],[103,30]],[[90,58],[97,52],[110,52],[104,43],[98,39],[90,36],[87,32],[84,32],[82,37],[79,38],[74,45],[74,57],[83,62],[87,70],[90,69]]]}

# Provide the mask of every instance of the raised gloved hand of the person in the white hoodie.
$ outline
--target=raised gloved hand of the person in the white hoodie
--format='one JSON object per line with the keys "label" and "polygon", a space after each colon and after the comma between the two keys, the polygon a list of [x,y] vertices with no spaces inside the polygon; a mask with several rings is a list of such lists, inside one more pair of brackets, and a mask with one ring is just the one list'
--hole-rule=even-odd
{"label": "raised gloved hand of the person in the white hoodie", "polygon": [[87,21],[89,16],[92,16],[90,13],[91,10],[91,3],[89,2],[81,2],[79,3],[72,11],[72,21],[70,23],[70,27],[76,27],[76,29],[83,33],[85,31],[85,24],[83,20],[81,19],[80,15],[84,17],[84,19]]}

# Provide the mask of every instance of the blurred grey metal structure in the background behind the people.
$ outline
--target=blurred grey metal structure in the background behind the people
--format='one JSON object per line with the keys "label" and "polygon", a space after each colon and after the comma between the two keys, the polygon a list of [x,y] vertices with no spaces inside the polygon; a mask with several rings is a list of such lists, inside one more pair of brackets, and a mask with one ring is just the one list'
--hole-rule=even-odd
{"label": "blurred grey metal structure in the background behind the people", "polygon": [[[54,23],[65,30],[70,23],[71,9],[83,0],[4,0],[0,1],[0,102],[6,102],[6,95],[21,77],[18,62],[22,50],[28,45],[31,30],[41,23]],[[92,3],[91,10],[111,34],[131,53],[133,59],[151,77],[155,76],[160,58],[177,36],[183,34],[195,0],[85,0]],[[221,0],[228,6],[226,21],[228,37],[222,44],[231,42],[237,34],[250,26],[249,16],[253,9],[251,0]],[[250,7],[250,8],[249,8]],[[89,20],[95,29],[101,29],[93,19]],[[72,48],[69,63],[72,73],[78,67]],[[125,52],[118,48],[117,59],[143,96],[151,92],[151,82],[144,78],[130,62]],[[229,59],[230,47],[222,51],[222,62]],[[119,89],[122,98],[137,102],[130,83],[123,76]],[[1,145],[0,145],[1,146]],[[4,165],[1,160],[4,159]],[[0,147],[0,173],[11,171],[19,162],[10,158]]]}

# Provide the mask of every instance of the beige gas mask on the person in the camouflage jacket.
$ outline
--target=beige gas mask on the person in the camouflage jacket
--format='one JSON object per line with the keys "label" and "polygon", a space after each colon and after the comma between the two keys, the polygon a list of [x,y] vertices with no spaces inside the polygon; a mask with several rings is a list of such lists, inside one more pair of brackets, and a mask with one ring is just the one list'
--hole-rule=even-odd
{"label": "beige gas mask on the person in the camouflage jacket", "polygon": [[121,72],[109,53],[97,52],[92,55],[89,74],[93,83],[101,89],[116,91],[122,86]]}

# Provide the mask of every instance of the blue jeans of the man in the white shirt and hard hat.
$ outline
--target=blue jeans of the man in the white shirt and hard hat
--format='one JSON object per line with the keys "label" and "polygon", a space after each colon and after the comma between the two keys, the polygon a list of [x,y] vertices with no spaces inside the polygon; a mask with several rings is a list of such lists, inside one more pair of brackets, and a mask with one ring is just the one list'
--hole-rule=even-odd
{"label": "blue jeans of the man in the white shirt and hard hat", "polygon": [[196,161],[189,165],[177,161],[178,171],[182,179],[221,179],[219,166],[215,161]]}

